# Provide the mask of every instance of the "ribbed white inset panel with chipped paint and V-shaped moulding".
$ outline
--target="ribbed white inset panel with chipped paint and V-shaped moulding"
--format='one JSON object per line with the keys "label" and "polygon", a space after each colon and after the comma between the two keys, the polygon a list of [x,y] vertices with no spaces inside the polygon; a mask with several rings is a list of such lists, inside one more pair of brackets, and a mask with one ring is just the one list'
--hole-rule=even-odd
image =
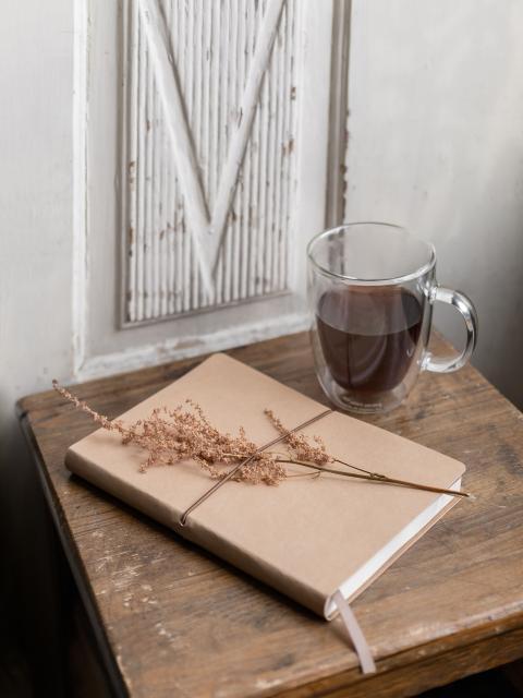
{"label": "ribbed white inset panel with chipped paint and V-shaped moulding", "polygon": [[289,290],[296,0],[131,0],[124,323]]}

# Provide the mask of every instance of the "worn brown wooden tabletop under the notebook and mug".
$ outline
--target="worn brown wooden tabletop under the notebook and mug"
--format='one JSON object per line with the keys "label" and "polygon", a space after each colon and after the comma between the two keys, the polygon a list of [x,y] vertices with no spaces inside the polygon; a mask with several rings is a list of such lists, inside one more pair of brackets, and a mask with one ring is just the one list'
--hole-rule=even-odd
{"label": "worn brown wooden tabletop under the notebook and mug", "polygon": [[[305,334],[230,353],[326,401]],[[196,362],[94,381],[75,392],[113,418]],[[464,461],[463,486],[476,495],[354,602],[377,658],[378,673],[367,678],[338,621],[313,616],[71,476],[65,449],[94,429],[85,414],[53,392],[27,397],[19,408],[121,693],[411,696],[523,657],[523,416],[472,368],[423,374],[403,407],[366,418]]]}

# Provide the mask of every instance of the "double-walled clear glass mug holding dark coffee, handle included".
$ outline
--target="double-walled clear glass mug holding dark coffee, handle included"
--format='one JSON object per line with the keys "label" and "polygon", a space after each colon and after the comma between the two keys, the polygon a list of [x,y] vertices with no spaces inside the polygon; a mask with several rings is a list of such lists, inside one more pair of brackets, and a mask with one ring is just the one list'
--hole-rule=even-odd
{"label": "double-walled clear glass mug holding dark coffee, handle included", "polygon": [[[354,222],[313,238],[307,256],[316,373],[337,407],[393,409],[421,371],[447,373],[469,361],[476,311],[460,291],[438,286],[431,244],[398,226]],[[427,350],[436,301],[453,305],[465,321],[458,356],[436,358]]]}

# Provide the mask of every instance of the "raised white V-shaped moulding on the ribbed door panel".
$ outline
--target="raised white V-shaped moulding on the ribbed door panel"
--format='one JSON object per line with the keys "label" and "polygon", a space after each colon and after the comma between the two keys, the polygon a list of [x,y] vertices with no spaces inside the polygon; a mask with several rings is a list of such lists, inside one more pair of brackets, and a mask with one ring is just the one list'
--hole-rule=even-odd
{"label": "raised white V-shaped moulding on the ribbed door panel", "polygon": [[245,156],[259,91],[267,70],[278,24],[285,0],[268,0],[240,105],[240,119],[231,136],[226,165],[220,178],[212,215],[209,218],[191,127],[186,118],[169,33],[159,7],[160,0],[139,0],[146,28],[149,56],[155,69],[157,87],[173,146],[177,172],[190,217],[190,230],[196,244],[202,278],[214,297],[214,273],[227,224],[227,216],[236,190],[240,168]]}

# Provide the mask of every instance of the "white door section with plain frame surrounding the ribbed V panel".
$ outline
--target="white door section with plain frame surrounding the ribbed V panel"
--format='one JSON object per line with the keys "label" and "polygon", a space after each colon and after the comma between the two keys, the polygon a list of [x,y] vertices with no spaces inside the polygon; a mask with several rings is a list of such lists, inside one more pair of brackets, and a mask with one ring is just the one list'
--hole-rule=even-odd
{"label": "white door section with plain frame surrounding the ribbed V panel", "polygon": [[167,1],[89,3],[83,376],[308,323],[332,0]]}

